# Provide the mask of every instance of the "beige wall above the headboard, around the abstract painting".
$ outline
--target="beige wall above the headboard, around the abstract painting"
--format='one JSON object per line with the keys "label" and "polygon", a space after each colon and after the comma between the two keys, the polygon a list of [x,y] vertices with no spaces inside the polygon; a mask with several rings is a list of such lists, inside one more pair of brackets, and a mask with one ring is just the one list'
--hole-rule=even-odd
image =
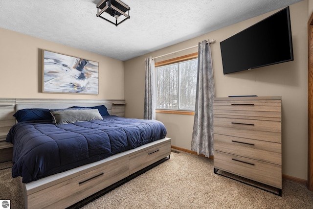
{"label": "beige wall above the headboard, around the abstract painting", "polygon": [[[0,97],[124,99],[122,61],[0,28]],[[99,62],[99,94],[42,93],[42,49]]]}

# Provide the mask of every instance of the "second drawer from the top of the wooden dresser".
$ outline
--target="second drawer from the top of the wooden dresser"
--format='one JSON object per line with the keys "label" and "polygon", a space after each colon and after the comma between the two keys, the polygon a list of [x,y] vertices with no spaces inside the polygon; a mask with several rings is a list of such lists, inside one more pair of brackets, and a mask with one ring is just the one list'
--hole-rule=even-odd
{"label": "second drawer from the top of the wooden dresser", "polygon": [[214,117],[214,133],[281,143],[281,122]]}

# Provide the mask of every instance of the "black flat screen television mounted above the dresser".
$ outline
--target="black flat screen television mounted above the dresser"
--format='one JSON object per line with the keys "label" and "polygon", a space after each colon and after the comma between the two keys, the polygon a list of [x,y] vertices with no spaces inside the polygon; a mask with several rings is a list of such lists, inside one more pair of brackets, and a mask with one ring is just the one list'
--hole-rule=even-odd
{"label": "black flat screen television mounted above the dresser", "polygon": [[224,74],[293,60],[289,7],[220,43]]}

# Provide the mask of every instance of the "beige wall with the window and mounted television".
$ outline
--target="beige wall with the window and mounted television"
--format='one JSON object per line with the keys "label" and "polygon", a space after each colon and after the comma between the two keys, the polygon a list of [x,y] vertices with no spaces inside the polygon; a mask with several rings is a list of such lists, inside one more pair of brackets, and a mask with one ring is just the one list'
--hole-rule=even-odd
{"label": "beige wall with the window and mounted television", "polygon": [[[203,39],[215,39],[216,43],[211,45],[211,49],[216,96],[254,94],[282,96],[283,173],[307,179],[308,1],[304,0],[290,6],[294,61],[233,74],[223,74],[219,43],[276,11],[126,61],[124,63],[126,116],[143,117],[145,57],[159,56],[195,46]],[[193,52],[197,52],[197,48],[156,59],[156,62]],[[156,119],[165,124],[168,131],[167,136],[172,138],[172,145],[190,149],[193,116],[157,114]]]}

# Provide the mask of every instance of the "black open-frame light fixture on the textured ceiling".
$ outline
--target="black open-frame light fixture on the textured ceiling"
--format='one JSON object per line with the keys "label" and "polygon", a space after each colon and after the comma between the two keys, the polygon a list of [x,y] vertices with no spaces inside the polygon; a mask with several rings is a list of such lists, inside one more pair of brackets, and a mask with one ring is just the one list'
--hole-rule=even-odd
{"label": "black open-frame light fixture on the textured ceiling", "polygon": [[[131,18],[131,16],[129,16],[129,10],[131,8],[120,0],[102,0],[97,4],[97,8],[97,17],[102,18],[115,26]],[[128,14],[125,13],[127,11]]]}

